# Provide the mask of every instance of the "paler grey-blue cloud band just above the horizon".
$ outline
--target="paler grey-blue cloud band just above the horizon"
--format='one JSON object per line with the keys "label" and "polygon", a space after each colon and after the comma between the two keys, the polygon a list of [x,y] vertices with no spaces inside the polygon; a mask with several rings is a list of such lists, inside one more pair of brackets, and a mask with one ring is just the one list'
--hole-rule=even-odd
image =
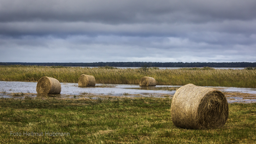
{"label": "paler grey-blue cloud band just above the horizon", "polygon": [[[6,39],[5,39],[6,40]],[[138,40],[141,40],[138,42]],[[212,45],[176,37],[135,38],[120,36],[70,36],[40,38],[44,43],[31,44],[30,37],[1,42],[2,60],[33,62],[98,61],[253,61],[255,46]],[[46,44],[46,45],[45,45]],[[19,48],[17,48],[17,45]],[[8,49],[6,49],[8,47]]]}

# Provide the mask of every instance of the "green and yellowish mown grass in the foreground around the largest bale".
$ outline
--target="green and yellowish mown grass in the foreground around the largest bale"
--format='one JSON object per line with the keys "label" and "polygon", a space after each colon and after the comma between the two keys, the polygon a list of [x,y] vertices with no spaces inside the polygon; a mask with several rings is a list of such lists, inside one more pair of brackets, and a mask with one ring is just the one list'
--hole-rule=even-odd
{"label": "green and yellowish mown grass in the foreground around the largest bale", "polygon": [[[0,143],[254,143],[256,103],[230,104],[218,129],[175,127],[169,98],[0,99]],[[18,132],[21,136],[14,136]],[[26,136],[24,133],[43,133]],[[45,132],[53,135],[45,135]],[[56,136],[56,133],[69,136]]]}

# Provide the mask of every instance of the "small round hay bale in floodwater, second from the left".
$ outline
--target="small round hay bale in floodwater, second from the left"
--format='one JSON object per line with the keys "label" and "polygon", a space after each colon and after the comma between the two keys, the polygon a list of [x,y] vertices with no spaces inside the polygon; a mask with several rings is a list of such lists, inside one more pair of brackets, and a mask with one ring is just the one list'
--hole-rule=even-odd
{"label": "small round hay bale in floodwater, second from the left", "polygon": [[78,78],[78,86],[95,86],[96,81],[94,76],[81,75]]}

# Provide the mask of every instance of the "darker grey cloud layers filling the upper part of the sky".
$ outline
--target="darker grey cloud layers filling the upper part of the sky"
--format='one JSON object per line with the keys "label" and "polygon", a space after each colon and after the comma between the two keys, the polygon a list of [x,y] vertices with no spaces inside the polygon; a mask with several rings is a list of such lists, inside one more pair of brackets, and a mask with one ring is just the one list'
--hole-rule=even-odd
{"label": "darker grey cloud layers filling the upper part of the sky", "polygon": [[253,0],[0,0],[3,35],[254,34]]}

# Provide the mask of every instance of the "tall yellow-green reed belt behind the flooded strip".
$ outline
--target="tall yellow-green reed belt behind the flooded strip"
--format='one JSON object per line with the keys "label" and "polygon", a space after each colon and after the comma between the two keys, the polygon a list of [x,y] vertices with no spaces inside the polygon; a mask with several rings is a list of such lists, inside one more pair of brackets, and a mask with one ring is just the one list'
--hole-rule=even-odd
{"label": "tall yellow-green reed belt behind the flooded strip", "polygon": [[226,86],[256,88],[254,69],[213,69],[213,68],[148,68],[119,69],[112,67],[44,67],[44,66],[0,66],[1,81],[38,81],[43,76],[58,79],[60,82],[77,83],[82,74],[92,75],[96,83],[139,84],[142,76],[156,79],[158,85]]}

